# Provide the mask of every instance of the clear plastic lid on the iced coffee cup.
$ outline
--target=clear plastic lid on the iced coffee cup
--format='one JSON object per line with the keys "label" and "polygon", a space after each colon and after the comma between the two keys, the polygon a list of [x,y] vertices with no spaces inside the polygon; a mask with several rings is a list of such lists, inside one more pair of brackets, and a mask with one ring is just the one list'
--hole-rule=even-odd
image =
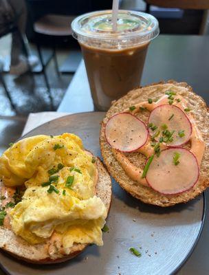
{"label": "clear plastic lid on the iced coffee cup", "polygon": [[78,41],[135,39],[137,43],[146,43],[159,34],[158,21],[151,14],[119,10],[116,32],[113,32],[111,18],[111,10],[83,14],[72,22],[73,35]]}

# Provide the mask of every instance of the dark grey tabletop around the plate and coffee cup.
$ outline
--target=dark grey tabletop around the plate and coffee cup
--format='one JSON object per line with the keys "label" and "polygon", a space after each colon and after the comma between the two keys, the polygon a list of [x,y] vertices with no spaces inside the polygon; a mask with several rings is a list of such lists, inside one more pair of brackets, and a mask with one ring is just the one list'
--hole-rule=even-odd
{"label": "dark grey tabletop around the plate and coffee cup", "polygon": [[[186,81],[209,103],[209,36],[159,35],[151,43],[141,85],[174,79]],[[78,113],[94,111],[91,92],[82,61],[72,79],[58,111]],[[209,192],[206,191],[206,200]],[[203,232],[192,256],[178,275],[208,275],[209,210]]]}

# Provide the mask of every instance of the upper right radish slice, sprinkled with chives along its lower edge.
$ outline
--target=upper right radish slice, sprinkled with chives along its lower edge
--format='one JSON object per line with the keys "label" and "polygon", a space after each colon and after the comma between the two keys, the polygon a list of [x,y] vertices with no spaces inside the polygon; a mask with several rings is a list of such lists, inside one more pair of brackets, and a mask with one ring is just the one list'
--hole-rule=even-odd
{"label": "upper right radish slice, sprinkled with chives along its lower edge", "polygon": [[[153,125],[153,126],[151,126]],[[175,105],[163,104],[156,107],[148,118],[149,133],[159,142],[160,137],[164,137],[164,142],[168,146],[180,146],[190,139],[192,134],[192,124],[184,111]],[[155,129],[157,126],[157,129]],[[168,135],[163,135],[163,131],[168,130],[173,133],[170,140]],[[159,133],[160,131],[160,133]],[[173,132],[174,131],[174,132]]]}

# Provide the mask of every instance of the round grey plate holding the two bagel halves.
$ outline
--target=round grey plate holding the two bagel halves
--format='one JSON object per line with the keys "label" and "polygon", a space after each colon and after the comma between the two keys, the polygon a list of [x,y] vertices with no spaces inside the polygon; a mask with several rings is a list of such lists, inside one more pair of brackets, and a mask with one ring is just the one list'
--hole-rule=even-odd
{"label": "round grey plate holding the two bagel halves", "polygon": [[[26,137],[72,131],[82,138],[85,148],[101,157],[98,134],[104,114],[88,112],[67,115],[39,126]],[[111,211],[107,221],[110,230],[103,236],[102,248],[93,245],[66,265],[61,263],[34,268],[34,265],[23,265],[1,253],[0,263],[8,273],[15,275],[83,275],[85,270],[92,275],[129,274],[131,270],[131,275],[137,275],[139,265],[140,275],[168,275],[184,261],[196,241],[202,211],[201,197],[173,208],[156,208],[134,199],[113,181]],[[129,252],[130,247],[138,245],[142,259],[133,257]]]}

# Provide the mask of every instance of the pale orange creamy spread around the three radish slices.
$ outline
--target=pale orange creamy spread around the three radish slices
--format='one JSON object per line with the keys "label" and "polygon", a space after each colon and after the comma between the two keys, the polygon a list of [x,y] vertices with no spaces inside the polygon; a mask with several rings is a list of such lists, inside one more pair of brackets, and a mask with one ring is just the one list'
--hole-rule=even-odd
{"label": "pale orange creamy spread around the three radish slices", "polygon": [[[155,109],[156,107],[159,107],[160,105],[169,104],[169,101],[170,101],[169,96],[170,96],[169,94],[166,94],[162,96],[162,98],[159,98],[157,102],[153,102],[152,100],[150,102],[148,101],[140,102],[134,105],[134,109],[132,111],[130,109],[125,109],[124,112],[129,112],[135,115],[136,113],[142,112],[142,108],[147,109],[148,111],[151,112],[153,111],[153,109]],[[195,157],[197,157],[197,162],[198,162],[198,165],[200,166],[201,159],[203,157],[203,153],[205,149],[205,142],[203,141],[203,137],[197,127],[197,123],[195,122],[192,115],[189,113],[188,103],[182,96],[179,96],[179,95],[175,96],[175,100],[172,100],[172,101],[173,102],[170,102],[170,103],[172,103],[173,105],[179,107],[182,111],[184,111],[184,113],[190,120],[190,124],[192,126],[192,133],[190,135],[190,139],[188,140],[190,141],[190,151],[194,153]],[[160,144],[161,150],[168,147],[169,145],[164,142]],[[132,164],[129,161],[128,157],[126,157],[126,155],[124,155],[124,153],[122,153],[121,151],[118,151],[115,148],[112,148],[111,150],[115,158],[118,160],[118,162],[124,169],[126,175],[128,175],[131,179],[133,179],[133,181],[137,181],[139,184],[142,184],[143,186],[148,186],[146,179],[142,178],[143,170],[141,168]],[[138,148],[136,152],[142,153],[146,157],[151,157],[151,155],[155,153],[154,147],[151,146],[151,135],[148,136],[146,144],[144,144],[144,146],[142,146],[141,148]]]}

